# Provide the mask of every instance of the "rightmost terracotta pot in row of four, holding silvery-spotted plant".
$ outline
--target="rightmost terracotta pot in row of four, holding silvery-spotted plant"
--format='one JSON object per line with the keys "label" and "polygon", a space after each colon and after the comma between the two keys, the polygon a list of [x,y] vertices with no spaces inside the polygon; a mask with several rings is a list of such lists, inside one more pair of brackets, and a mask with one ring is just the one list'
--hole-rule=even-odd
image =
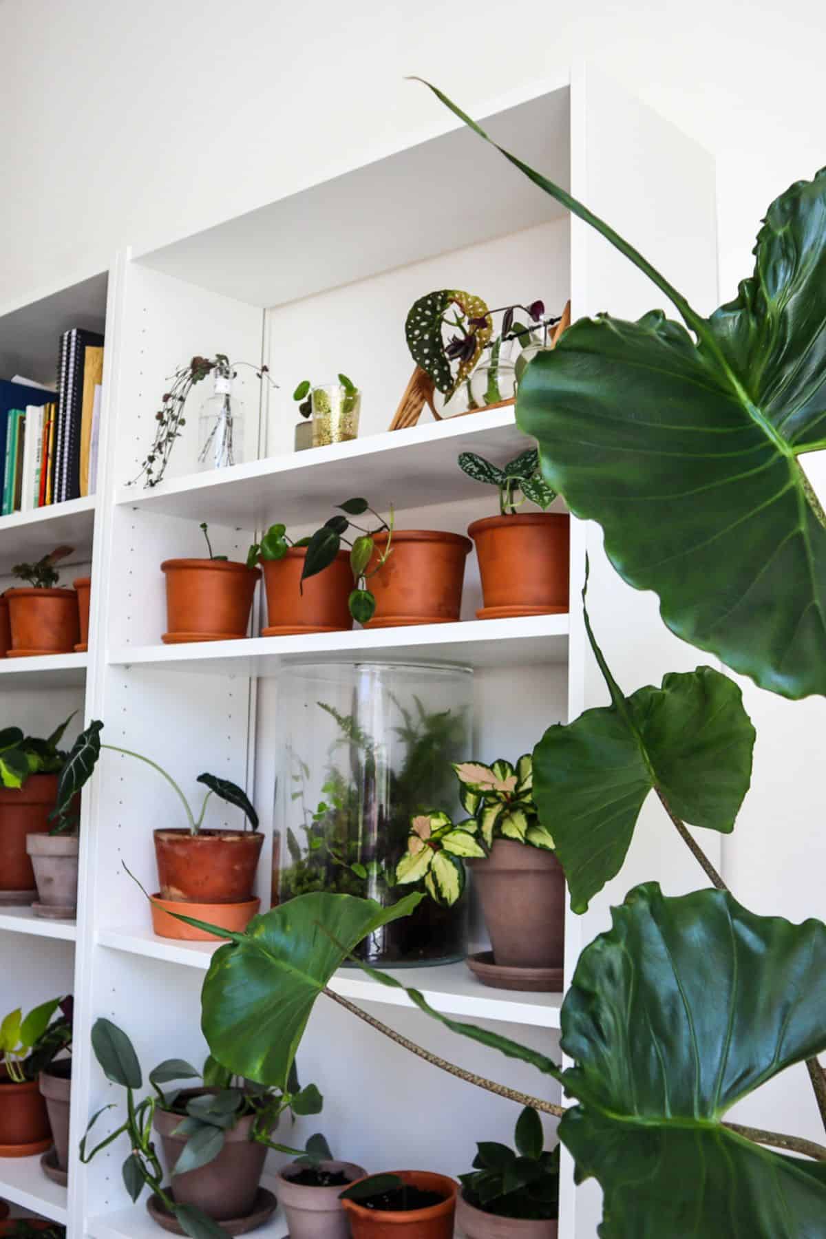
{"label": "rightmost terracotta pot in row of four, holding silvery-spotted plant", "polygon": [[474,520],[484,606],[479,620],[557,615],[568,610],[571,518],[529,512]]}

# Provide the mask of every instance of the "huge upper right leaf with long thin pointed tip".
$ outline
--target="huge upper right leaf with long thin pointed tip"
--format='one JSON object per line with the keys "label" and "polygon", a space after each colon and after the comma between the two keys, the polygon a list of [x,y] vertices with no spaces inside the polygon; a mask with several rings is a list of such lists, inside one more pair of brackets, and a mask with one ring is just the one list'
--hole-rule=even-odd
{"label": "huge upper right leaf with long thin pointed tip", "polygon": [[784,696],[826,693],[826,517],[798,458],[826,447],[826,170],[772,203],[753,276],[705,318],[587,207],[498,149],[693,332],[659,311],[601,315],[540,352],[516,420],[545,478],[599,522],[613,565],[656,591],[677,636]]}

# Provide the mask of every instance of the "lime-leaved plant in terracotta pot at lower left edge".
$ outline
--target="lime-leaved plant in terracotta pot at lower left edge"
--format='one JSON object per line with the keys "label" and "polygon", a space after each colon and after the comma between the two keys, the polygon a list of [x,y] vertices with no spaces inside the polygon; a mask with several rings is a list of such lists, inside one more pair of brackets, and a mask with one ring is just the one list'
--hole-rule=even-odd
{"label": "lime-leaved plant in terracotta pot at lower left edge", "polygon": [[31,1157],[52,1144],[37,1077],[71,1043],[66,1016],[52,1022],[61,999],[42,1002],[24,1017],[20,1007],[0,1023],[0,1157]]}

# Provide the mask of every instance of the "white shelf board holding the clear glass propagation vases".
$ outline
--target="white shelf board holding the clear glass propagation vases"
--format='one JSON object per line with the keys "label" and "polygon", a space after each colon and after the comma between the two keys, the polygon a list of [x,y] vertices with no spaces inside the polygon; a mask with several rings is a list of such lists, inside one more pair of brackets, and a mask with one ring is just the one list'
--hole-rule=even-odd
{"label": "white shelf board holding the clear glass propagation vases", "polygon": [[151,491],[121,487],[118,503],[235,528],[326,519],[336,503],[353,496],[364,496],[379,512],[390,502],[421,508],[484,494],[456,463],[459,452],[508,461],[529,444],[513,406],[492,409],[171,478]]}

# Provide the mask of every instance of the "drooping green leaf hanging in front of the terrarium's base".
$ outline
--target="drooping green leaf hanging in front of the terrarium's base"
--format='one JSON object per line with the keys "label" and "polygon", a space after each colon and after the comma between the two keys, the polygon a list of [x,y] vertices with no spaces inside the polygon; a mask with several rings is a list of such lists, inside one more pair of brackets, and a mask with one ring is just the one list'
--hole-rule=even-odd
{"label": "drooping green leaf hanging in front of the terrarium's base", "polygon": [[313,1004],[342,960],[421,898],[383,908],[349,895],[300,895],[255,917],[215,952],[203,985],[202,1028],[215,1058],[238,1075],[285,1088]]}

